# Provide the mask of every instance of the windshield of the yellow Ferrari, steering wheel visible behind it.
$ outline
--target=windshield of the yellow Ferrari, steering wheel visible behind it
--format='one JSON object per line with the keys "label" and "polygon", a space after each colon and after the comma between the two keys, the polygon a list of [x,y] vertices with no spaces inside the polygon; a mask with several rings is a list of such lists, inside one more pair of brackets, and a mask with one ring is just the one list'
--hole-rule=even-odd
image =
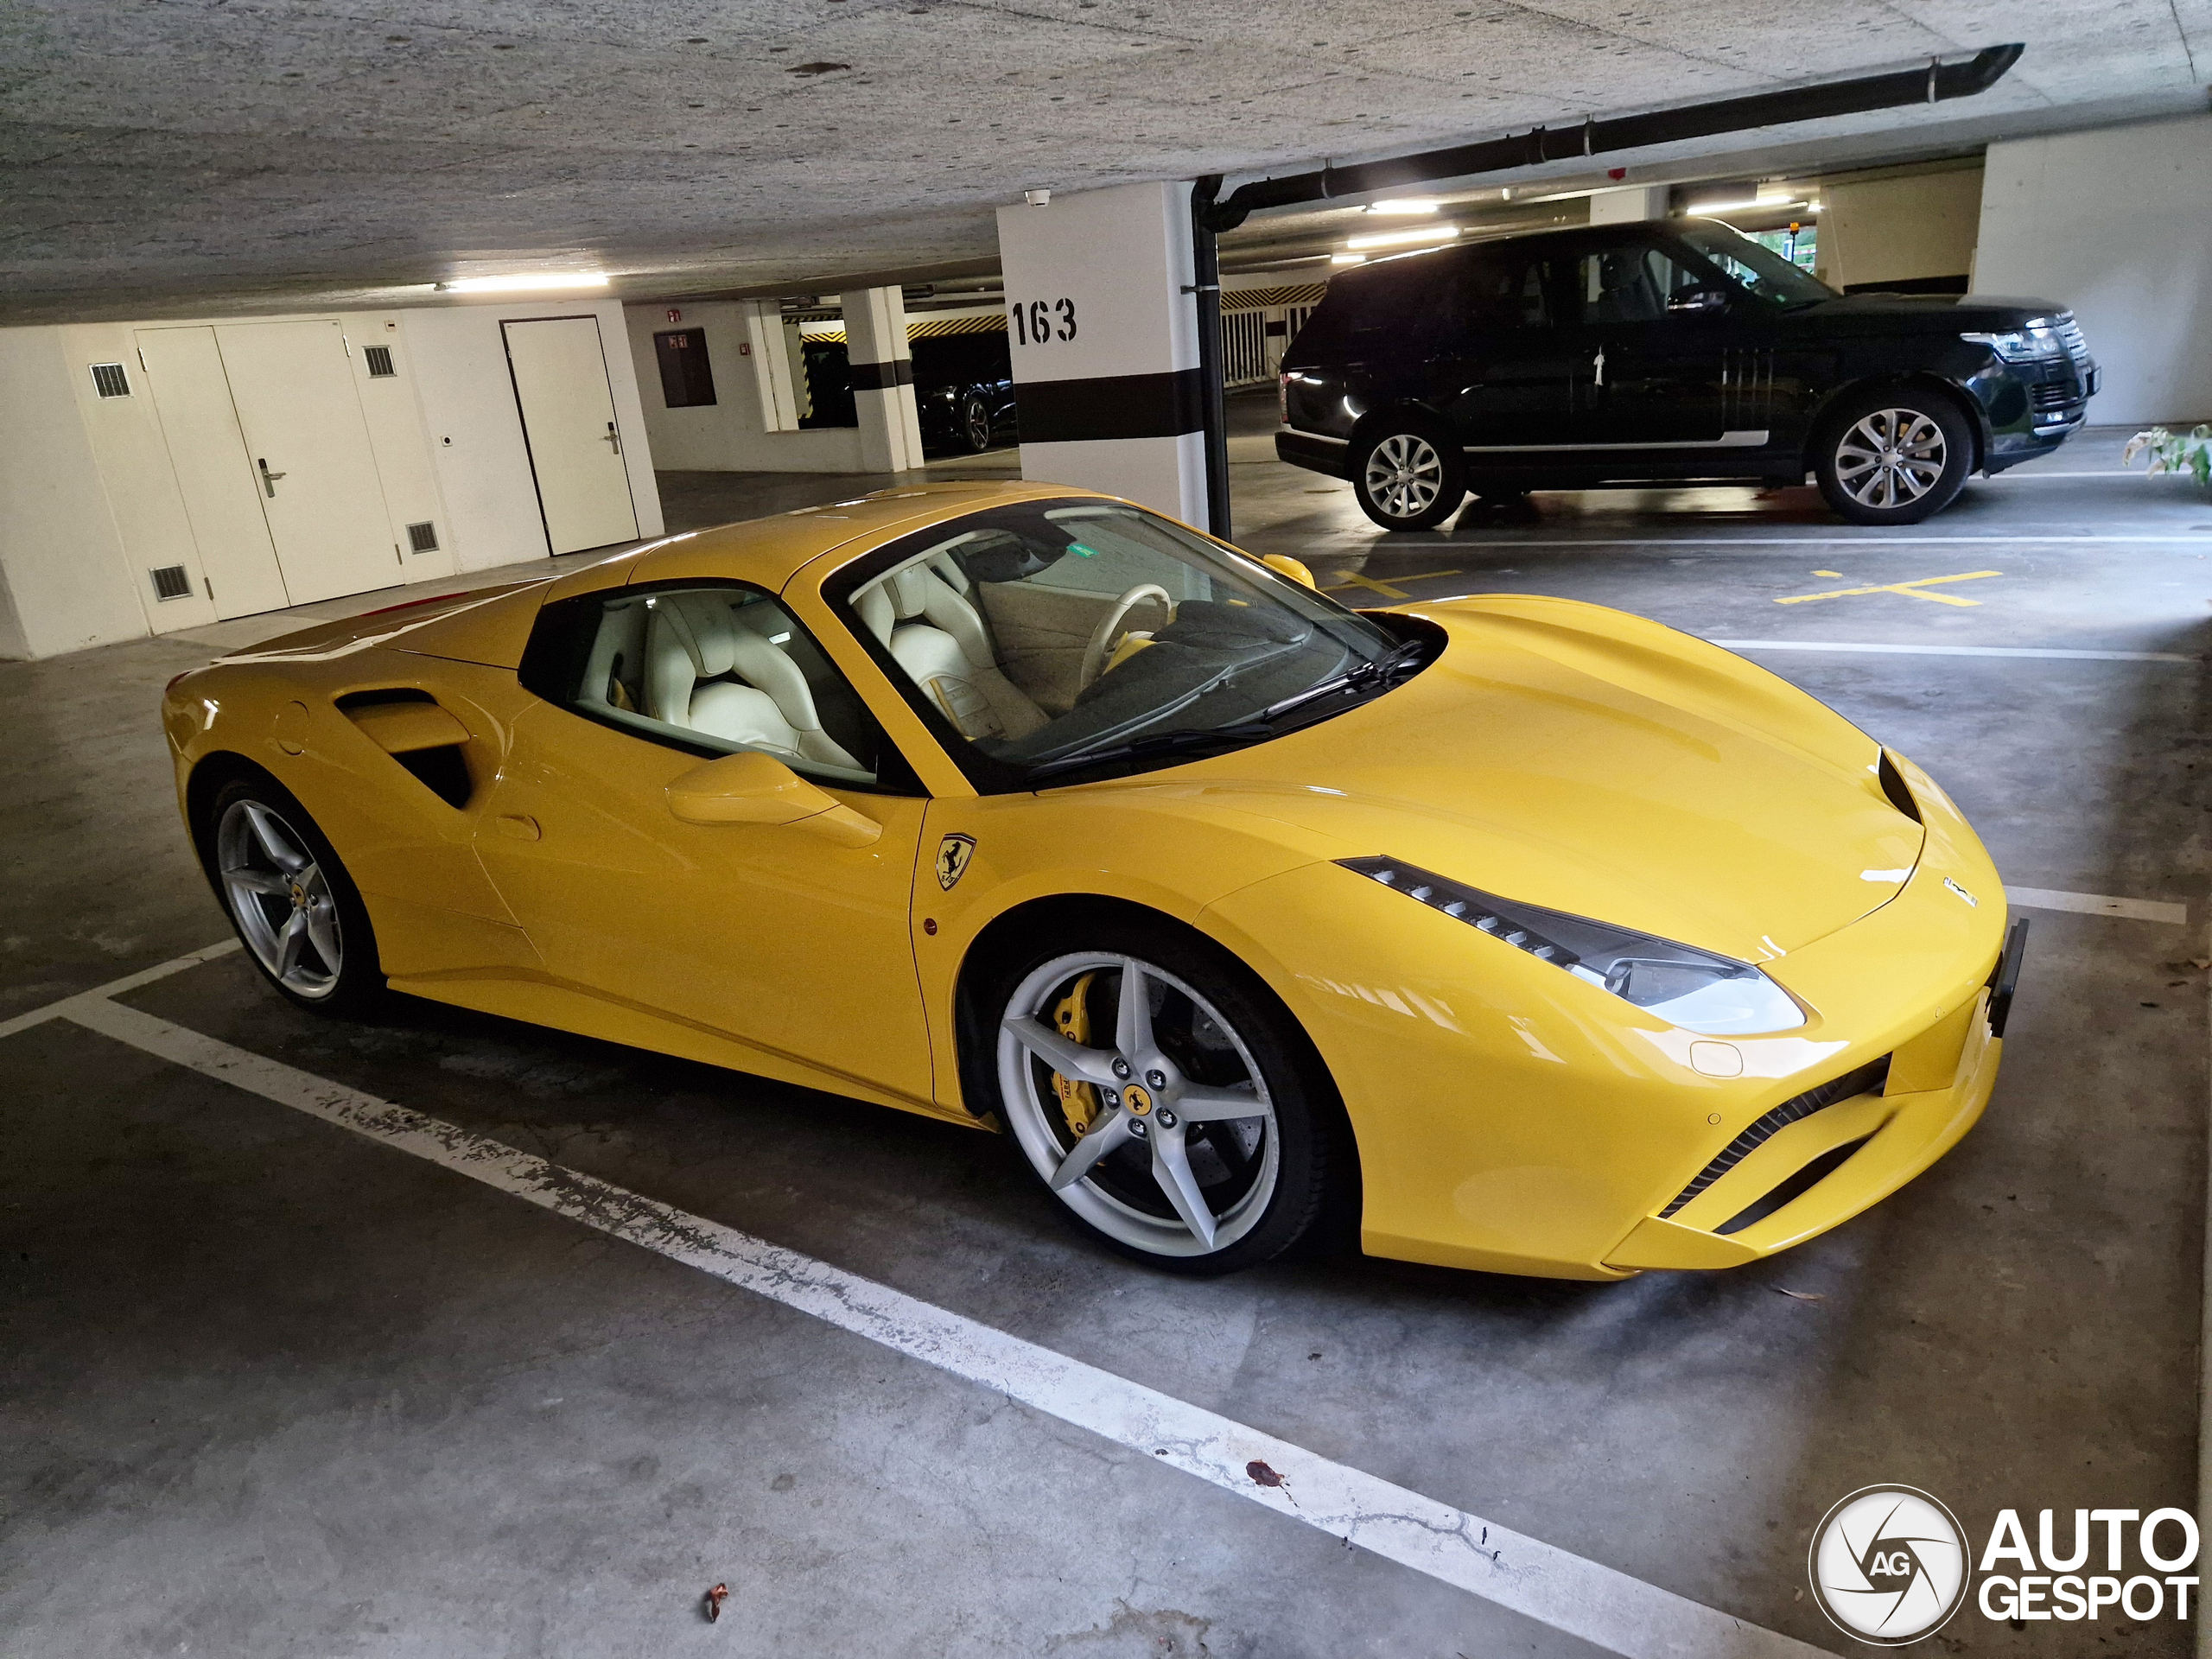
{"label": "windshield of the yellow Ferrari, steering wheel visible behind it", "polygon": [[1405,659],[1367,617],[1119,502],[993,507],[830,588],[995,790],[1252,743],[1385,688]]}

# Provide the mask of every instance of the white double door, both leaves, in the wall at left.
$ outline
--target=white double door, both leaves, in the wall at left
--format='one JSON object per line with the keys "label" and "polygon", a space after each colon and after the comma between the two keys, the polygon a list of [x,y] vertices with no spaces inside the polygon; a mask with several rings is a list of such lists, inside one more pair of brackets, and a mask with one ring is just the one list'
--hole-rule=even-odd
{"label": "white double door, both leaves, in the wall at left", "polygon": [[405,580],[338,323],[137,332],[215,611]]}

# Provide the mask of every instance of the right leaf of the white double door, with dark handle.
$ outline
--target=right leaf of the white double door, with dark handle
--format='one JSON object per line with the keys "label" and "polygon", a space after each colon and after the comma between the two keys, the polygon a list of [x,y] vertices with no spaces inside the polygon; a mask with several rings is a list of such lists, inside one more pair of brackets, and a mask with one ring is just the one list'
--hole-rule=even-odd
{"label": "right leaf of the white double door, with dark handle", "polygon": [[217,323],[215,341],[292,604],[403,582],[338,323]]}

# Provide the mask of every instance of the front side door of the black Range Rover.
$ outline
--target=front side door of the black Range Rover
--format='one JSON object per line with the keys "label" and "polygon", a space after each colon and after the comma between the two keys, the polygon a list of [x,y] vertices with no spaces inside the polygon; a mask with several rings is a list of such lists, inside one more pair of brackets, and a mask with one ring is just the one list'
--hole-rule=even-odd
{"label": "front side door of the black Range Rover", "polygon": [[1728,427],[1741,334],[1732,294],[1703,261],[1650,234],[1586,248],[1575,263],[1577,447],[1741,442]]}

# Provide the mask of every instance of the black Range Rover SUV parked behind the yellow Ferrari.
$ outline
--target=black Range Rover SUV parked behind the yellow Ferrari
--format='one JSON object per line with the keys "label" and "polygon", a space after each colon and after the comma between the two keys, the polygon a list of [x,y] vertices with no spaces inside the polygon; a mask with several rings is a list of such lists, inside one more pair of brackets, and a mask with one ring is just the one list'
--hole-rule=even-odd
{"label": "black Range Rover SUV parked behind the yellow Ferrari", "polygon": [[2066,440],[2097,392],[2073,312],[1843,296],[1710,219],[1553,230],[1347,270],[1283,356],[1276,453],[1394,531],[1473,489],[1801,484],[1911,524]]}

